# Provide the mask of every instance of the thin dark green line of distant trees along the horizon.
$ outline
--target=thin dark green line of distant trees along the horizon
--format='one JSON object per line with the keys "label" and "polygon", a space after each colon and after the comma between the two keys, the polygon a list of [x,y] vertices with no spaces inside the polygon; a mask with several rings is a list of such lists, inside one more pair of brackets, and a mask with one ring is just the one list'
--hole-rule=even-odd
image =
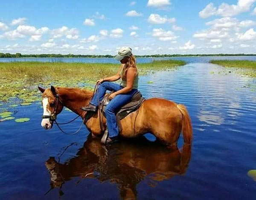
{"label": "thin dark green line of distant trees along the horizon", "polygon": [[[0,58],[113,58],[115,55],[79,55],[79,54],[21,54],[0,53]],[[256,56],[256,54],[154,54],[135,55],[137,58],[191,57],[191,56]]]}

